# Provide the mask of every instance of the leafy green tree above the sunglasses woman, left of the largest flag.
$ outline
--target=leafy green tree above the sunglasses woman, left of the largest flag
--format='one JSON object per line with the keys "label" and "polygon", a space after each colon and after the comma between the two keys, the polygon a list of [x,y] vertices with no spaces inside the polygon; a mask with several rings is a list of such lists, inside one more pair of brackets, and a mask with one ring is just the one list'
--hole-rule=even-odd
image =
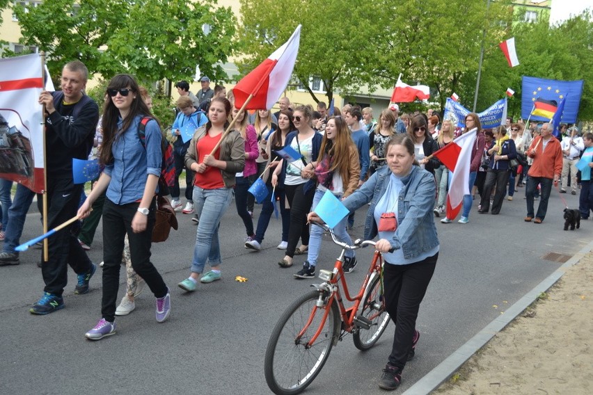
{"label": "leafy green tree above the sunglasses woman, left of the largest flag", "polygon": [[148,81],[166,78],[171,84],[191,79],[197,64],[213,81],[224,80],[221,63],[235,50],[235,24],[230,8],[211,3],[135,1],[125,24],[107,40],[100,68],[127,70]]}

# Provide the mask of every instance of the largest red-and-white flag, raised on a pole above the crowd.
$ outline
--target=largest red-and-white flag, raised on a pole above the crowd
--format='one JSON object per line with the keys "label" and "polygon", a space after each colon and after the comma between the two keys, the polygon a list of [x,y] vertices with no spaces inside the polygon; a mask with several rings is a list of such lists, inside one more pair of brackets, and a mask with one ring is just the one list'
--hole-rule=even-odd
{"label": "largest red-and-white flag, raised on a pole above the crowd", "polygon": [[271,54],[252,72],[244,76],[235,88],[232,88],[235,107],[241,108],[250,95],[253,97],[245,107],[247,110],[269,109],[278,102],[290,81],[299,53],[300,40],[301,25],[297,26],[282,47],[276,49],[274,54]]}

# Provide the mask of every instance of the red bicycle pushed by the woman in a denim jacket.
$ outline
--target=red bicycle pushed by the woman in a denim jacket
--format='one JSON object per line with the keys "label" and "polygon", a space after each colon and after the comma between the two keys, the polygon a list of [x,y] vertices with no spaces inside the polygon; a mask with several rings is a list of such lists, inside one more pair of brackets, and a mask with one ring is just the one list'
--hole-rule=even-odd
{"label": "red bicycle pushed by the woman in a denim jacket", "polygon": [[[342,247],[333,271],[320,270],[322,284],[292,303],[282,314],[268,342],[264,370],[268,387],[278,395],[299,394],[323,368],[331,348],[351,333],[354,346],[368,350],[385,332],[389,323],[383,295],[383,257],[374,252],[361,289],[351,296],[342,264],[347,250],[357,250],[374,241],[358,239],[347,245],[336,239],[332,229],[320,223],[331,239]],[[354,305],[346,308],[344,294]]]}

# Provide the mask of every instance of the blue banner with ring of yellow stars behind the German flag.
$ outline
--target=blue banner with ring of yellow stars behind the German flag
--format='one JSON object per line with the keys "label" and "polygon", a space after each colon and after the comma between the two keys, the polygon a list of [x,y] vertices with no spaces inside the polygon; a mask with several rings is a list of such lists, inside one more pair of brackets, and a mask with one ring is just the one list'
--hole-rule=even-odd
{"label": "blue banner with ring of yellow stars behind the German flag", "polygon": [[[580,106],[580,95],[583,94],[583,80],[559,81],[555,79],[541,79],[533,76],[523,76],[521,88],[521,118],[527,119],[533,110],[533,102],[541,98],[564,102],[564,112],[560,122],[575,123]],[[532,120],[548,122],[548,118],[532,115]]]}

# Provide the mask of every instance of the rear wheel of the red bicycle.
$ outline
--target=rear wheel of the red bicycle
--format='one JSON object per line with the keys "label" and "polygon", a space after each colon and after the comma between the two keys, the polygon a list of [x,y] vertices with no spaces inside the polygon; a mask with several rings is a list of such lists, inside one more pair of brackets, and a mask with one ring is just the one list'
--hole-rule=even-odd
{"label": "rear wheel of the red bicycle", "polygon": [[354,346],[358,350],[368,350],[381,337],[389,324],[389,314],[385,311],[383,303],[384,296],[381,294],[381,277],[374,277],[367,285],[365,300],[363,300],[362,314],[365,319],[371,322],[369,329],[358,328],[352,334]]}

